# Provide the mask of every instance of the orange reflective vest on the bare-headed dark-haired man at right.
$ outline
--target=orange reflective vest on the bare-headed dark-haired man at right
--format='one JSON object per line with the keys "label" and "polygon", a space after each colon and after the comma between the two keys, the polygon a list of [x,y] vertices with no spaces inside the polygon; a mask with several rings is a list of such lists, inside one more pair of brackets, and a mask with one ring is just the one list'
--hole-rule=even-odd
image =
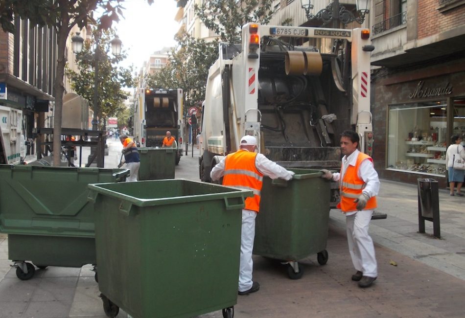
{"label": "orange reflective vest on the bare-headed dark-haired man at right", "polygon": [[[357,211],[357,203],[354,202],[363,192],[363,189],[366,186],[366,183],[358,177],[358,169],[363,160],[368,159],[373,162],[373,159],[364,153],[359,153],[355,166],[349,165],[346,170],[346,174],[341,181],[340,190],[341,190],[341,202],[338,204],[344,213]],[[342,175],[342,167],[341,167]],[[364,210],[372,210],[376,208],[376,197],[372,197],[368,200],[367,205]]]}

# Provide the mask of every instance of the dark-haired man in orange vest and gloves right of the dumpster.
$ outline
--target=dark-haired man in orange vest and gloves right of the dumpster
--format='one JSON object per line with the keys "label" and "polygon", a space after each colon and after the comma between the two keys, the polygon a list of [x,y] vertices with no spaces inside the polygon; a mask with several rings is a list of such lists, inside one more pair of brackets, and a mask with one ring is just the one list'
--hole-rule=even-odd
{"label": "dark-haired man in orange vest and gloves right of the dumpster", "polygon": [[341,134],[341,172],[321,170],[322,178],[340,182],[341,202],[338,208],[346,214],[347,242],[350,257],[357,273],[352,280],[361,288],[369,287],[378,276],[373,240],[368,227],[379,191],[378,173],[374,170],[373,159],[361,153],[357,147],[360,137],[354,131]]}

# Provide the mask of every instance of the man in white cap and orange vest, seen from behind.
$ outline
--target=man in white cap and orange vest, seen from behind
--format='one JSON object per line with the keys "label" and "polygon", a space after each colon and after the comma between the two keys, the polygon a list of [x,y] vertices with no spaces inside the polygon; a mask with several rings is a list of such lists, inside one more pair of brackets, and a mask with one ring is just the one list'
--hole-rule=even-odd
{"label": "man in white cap and orange vest, seen from behind", "polygon": [[256,138],[243,136],[240,149],[223,158],[211,169],[212,180],[223,177],[223,185],[252,190],[254,196],[245,199],[242,209],[242,233],[239,264],[239,295],[255,293],[260,289],[258,282],[252,281],[252,250],[255,239],[255,218],[260,207],[260,191],[263,176],[271,179],[291,180],[294,172],[288,171],[262,154],[255,153]]}

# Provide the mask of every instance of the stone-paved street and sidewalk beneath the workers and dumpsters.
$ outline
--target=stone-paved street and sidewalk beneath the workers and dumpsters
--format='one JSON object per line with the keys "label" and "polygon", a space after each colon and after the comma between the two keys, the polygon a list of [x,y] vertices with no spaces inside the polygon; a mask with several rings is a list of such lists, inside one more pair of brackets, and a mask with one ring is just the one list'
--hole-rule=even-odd
{"label": "stone-paved street and sidewalk beneath the workers and dumpsters", "polygon": [[[109,165],[119,161],[118,147],[110,143]],[[197,165],[198,151],[192,157],[189,148],[176,177],[198,180]],[[370,227],[379,266],[372,288],[360,289],[350,280],[354,270],[345,217],[331,210],[328,263],[320,266],[316,255],[310,255],[300,260],[302,279],[290,280],[283,265],[254,256],[260,291],[238,296],[234,317],[464,317],[465,198],[440,191],[442,239],[433,238],[431,222],[426,222],[425,234],[418,233],[416,185],[382,180],[378,204],[388,218],[373,220]],[[31,280],[21,281],[10,264],[7,237],[0,234],[0,318],[105,317],[91,266],[38,269]],[[214,274],[214,269],[206,270]],[[117,317],[128,315],[121,311]]]}

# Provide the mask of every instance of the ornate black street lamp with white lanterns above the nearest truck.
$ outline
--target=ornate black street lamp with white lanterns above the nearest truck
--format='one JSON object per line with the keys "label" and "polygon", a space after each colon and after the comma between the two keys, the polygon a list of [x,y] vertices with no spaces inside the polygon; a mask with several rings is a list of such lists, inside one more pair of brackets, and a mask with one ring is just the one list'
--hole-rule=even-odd
{"label": "ornate black street lamp with white lanterns above the nearest truck", "polygon": [[365,15],[370,13],[370,10],[368,9],[369,0],[356,0],[356,15],[347,10],[345,6],[341,5],[339,0],[333,0],[326,6],[326,8],[321,9],[314,15],[310,12],[313,9],[313,4],[311,2],[311,0],[301,0],[302,9],[305,10],[305,16],[308,20],[322,20],[323,25],[326,25],[331,21],[335,22],[338,20],[343,24],[349,24],[354,21],[362,24],[365,21]]}

